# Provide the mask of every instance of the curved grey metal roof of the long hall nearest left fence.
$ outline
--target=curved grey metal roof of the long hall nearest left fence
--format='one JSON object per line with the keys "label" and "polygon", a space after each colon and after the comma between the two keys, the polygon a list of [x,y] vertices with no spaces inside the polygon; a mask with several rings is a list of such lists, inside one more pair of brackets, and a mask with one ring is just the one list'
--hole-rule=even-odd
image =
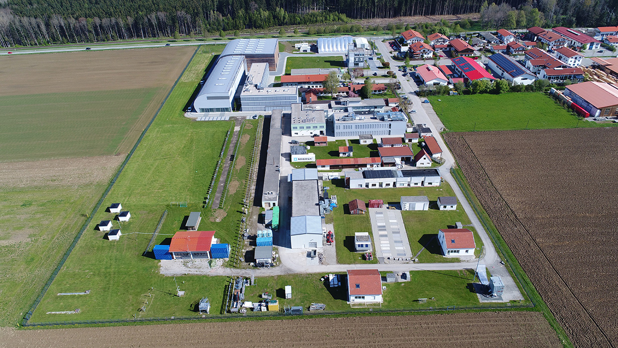
{"label": "curved grey metal roof of the long hall nearest left fence", "polygon": [[[229,91],[238,86],[234,86],[234,80],[240,69],[245,69],[245,57],[243,56],[227,56],[219,58],[219,61],[208,75],[208,80],[201,87],[197,97],[221,93],[229,95]],[[196,98],[197,98],[196,97]]]}

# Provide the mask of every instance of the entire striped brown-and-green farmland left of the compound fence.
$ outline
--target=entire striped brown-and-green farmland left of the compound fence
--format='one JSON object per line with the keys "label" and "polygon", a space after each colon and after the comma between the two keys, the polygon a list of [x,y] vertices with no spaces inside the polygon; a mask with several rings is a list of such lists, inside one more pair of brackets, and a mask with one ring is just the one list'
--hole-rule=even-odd
{"label": "entire striped brown-and-green farmland left of the compound fence", "polygon": [[194,51],[1,59],[0,325],[32,304]]}

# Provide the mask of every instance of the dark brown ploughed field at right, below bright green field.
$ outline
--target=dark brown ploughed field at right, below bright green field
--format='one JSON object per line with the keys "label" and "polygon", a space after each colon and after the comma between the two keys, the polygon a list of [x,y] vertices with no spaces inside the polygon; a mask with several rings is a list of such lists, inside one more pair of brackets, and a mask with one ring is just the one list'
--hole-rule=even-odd
{"label": "dark brown ploughed field at right, below bright green field", "polygon": [[576,347],[618,344],[618,129],[446,135],[498,231]]}

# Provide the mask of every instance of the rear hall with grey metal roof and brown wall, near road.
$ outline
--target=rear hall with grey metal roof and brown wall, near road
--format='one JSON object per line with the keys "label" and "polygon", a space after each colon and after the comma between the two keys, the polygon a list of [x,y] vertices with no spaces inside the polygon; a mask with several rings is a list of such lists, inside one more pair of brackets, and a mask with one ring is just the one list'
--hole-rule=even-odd
{"label": "rear hall with grey metal roof and brown wall, near road", "polygon": [[268,63],[271,71],[277,70],[279,62],[278,39],[235,39],[227,43],[219,60],[227,56],[244,56],[247,68],[253,63]]}

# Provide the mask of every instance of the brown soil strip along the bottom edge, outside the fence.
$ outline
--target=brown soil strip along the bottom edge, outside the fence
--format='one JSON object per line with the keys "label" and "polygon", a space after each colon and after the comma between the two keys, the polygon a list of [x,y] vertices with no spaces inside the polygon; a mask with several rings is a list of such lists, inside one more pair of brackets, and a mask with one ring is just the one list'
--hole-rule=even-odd
{"label": "brown soil strip along the bottom edge, outside the fence", "polygon": [[538,312],[364,316],[46,330],[0,329],[0,347],[562,347]]}

